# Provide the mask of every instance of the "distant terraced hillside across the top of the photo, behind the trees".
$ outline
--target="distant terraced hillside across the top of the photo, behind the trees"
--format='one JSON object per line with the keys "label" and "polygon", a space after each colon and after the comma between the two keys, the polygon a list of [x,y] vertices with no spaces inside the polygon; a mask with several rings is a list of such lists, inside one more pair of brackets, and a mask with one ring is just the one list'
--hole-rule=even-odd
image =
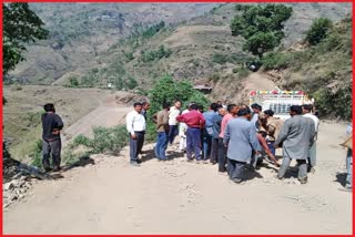
{"label": "distant terraced hillside across the top of the photo, behind the trees", "polygon": [[[313,19],[327,17],[338,21],[351,11],[349,3],[287,4],[294,13],[285,24],[285,48],[304,38]],[[229,29],[237,13],[235,3],[32,3],[31,7],[48,24],[51,38],[29,48],[28,60],[10,75],[13,80],[32,84],[57,81],[55,84],[63,85],[74,76],[94,81],[94,86],[105,86],[112,80],[133,79],[146,87],[164,73],[200,83],[245,76],[245,72],[240,76],[232,73],[233,69],[239,71],[237,63],[250,56],[241,52],[242,39],[232,37]],[[161,20],[165,27],[142,40],[144,30]],[[130,40],[123,41],[128,35]],[[161,45],[171,50],[170,56],[142,62],[142,52],[155,52]]]}

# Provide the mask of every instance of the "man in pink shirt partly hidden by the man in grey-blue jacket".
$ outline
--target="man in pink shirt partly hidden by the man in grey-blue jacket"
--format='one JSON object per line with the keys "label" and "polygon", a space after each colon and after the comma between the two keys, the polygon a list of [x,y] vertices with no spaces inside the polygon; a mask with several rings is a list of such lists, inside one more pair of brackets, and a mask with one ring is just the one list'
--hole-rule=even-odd
{"label": "man in pink shirt partly hidden by the man in grey-blue jacket", "polygon": [[227,111],[229,113],[223,116],[222,123],[221,123],[221,133],[220,133],[220,140],[219,140],[219,172],[220,174],[223,174],[226,172],[225,165],[226,165],[226,147],[223,144],[223,137],[224,137],[224,131],[226,128],[226,124],[230,120],[235,117],[237,113],[239,107],[236,104],[229,104]]}

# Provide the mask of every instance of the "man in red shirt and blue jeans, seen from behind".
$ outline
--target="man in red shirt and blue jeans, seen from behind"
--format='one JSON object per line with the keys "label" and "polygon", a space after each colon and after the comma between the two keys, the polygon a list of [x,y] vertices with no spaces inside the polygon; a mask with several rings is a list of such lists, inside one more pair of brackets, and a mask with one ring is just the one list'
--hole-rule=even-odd
{"label": "man in red shirt and blue jeans, seen from behind", "polygon": [[190,106],[191,111],[179,115],[176,117],[176,121],[183,122],[187,125],[186,131],[186,154],[187,154],[187,162],[192,161],[192,152],[195,153],[195,158],[197,163],[200,163],[201,159],[201,128],[204,127],[205,120],[197,111],[199,105],[192,104]]}

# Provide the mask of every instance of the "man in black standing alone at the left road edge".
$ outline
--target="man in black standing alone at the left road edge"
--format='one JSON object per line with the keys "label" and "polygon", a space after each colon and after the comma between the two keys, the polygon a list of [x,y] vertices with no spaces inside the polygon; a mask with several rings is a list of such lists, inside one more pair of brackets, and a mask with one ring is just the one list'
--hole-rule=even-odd
{"label": "man in black standing alone at the left road edge", "polygon": [[62,148],[62,143],[60,140],[60,131],[63,128],[64,124],[61,117],[55,114],[55,109],[53,104],[44,105],[45,113],[42,114],[42,153],[43,159],[42,165],[44,172],[49,172],[50,168],[50,156],[52,156],[53,171],[60,171],[60,153]]}

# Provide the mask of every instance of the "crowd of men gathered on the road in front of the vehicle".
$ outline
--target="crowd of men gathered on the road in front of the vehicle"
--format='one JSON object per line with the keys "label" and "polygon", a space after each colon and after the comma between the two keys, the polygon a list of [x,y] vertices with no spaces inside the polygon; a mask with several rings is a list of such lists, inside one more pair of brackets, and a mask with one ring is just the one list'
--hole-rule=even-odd
{"label": "crowd of men gathered on the road in front of the vehicle", "polygon": [[[146,106],[148,104],[148,106]],[[126,116],[130,133],[131,164],[139,166],[139,155],[144,142],[146,116],[142,110],[149,103],[135,103]],[[285,122],[273,116],[272,110],[262,112],[258,104],[224,105],[212,103],[207,111],[190,103],[182,111],[182,102],[176,100],[171,106],[162,104],[162,110],[152,116],[156,124],[155,156],[166,161],[168,145],[173,145],[180,135],[179,150],[186,153],[186,161],[219,164],[219,173],[227,174],[235,183],[245,181],[248,167],[256,167],[263,158],[280,167],[278,178],[283,178],[292,159],[298,164],[298,179],[307,182],[307,173],[315,171],[316,137],[320,125],[312,114],[312,105],[293,105],[291,118]],[[283,150],[283,162],[275,156],[276,148]]]}

